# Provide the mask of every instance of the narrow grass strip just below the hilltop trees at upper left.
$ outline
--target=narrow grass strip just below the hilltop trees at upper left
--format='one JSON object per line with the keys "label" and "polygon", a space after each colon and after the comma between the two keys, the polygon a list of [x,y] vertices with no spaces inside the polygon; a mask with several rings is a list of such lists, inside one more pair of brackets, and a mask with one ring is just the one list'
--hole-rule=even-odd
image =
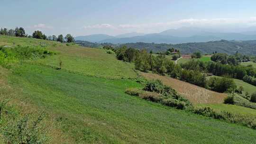
{"label": "narrow grass strip just below the hilltop trees at upper left", "polygon": [[60,44],[54,41],[48,41],[43,39],[28,38],[28,37],[16,37],[16,36],[0,36],[0,46],[3,45],[52,45]]}

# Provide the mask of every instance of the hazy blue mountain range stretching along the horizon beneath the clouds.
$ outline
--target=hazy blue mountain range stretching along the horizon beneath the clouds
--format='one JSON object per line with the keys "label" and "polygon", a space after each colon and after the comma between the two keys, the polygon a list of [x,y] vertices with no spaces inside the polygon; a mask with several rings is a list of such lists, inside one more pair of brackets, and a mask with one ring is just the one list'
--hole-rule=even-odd
{"label": "hazy blue mountain range stretching along the horizon beneath the clouds", "polygon": [[219,32],[197,27],[181,27],[178,29],[169,29],[155,34],[142,34],[142,33],[128,33],[118,36],[109,35],[89,35],[77,36],[75,40],[89,41],[97,43],[112,43],[112,44],[125,44],[125,43],[166,43],[166,44],[181,44],[181,43],[194,43],[194,42],[209,42],[217,40],[255,40],[256,30],[247,28],[247,31],[239,32]]}

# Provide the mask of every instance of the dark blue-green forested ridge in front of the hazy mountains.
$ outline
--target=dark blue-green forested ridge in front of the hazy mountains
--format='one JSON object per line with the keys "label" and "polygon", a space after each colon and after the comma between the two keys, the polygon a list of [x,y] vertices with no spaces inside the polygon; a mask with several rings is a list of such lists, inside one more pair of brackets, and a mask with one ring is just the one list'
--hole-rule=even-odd
{"label": "dark blue-green forested ridge in front of the hazy mountains", "polygon": [[155,43],[126,43],[121,45],[114,45],[110,43],[90,43],[77,41],[77,44],[82,46],[100,47],[104,45],[112,45],[113,47],[121,47],[126,45],[127,47],[146,49],[148,52],[165,52],[169,48],[176,48],[183,54],[191,54],[196,51],[200,51],[204,54],[212,54],[213,52],[235,54],[237,51],[241,54],[256,54],[256,40],[250,41],[210,41],[206,43],[184,43],[184,44],[155,44]]}

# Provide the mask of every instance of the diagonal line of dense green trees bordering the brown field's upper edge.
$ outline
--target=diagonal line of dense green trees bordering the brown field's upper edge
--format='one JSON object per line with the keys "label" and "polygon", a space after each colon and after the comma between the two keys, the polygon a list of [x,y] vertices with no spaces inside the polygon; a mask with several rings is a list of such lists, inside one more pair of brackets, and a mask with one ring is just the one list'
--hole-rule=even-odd
{"label": "diagonal line of dense green trees bordering the brown field's upper edge", "polygon": [[[207,74],[201,71],[201,67],[206,70],[204,64],[191,63],[189,67],[185,68],[185,65],[174,64],[170,58],[166,57],[164,53],[152,54],[147,53],[146,49],[138,50],[134,48],[127,48],[122,46],[118,49],[114,49],[111,46],[104,46],[105,49],[114,51],[117,59],[134,63],[135,69],[147,72],[152,71],[160,75],[168,75],[172,78],[186,81],[200,87],[214,90],[218,92],[225,92],[231,88],[236,87],[235,82],[229,78],[210,78],[207,79]],[[199,64],[197,66],[197,64]],[[197,68],[192,68],[196,66]],[[235,89],[234,89],[235,90]]]}

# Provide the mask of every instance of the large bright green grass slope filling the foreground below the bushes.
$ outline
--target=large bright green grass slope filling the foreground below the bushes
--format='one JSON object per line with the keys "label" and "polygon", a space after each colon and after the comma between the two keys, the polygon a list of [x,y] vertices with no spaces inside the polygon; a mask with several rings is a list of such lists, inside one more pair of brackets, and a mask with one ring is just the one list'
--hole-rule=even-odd
{"label": "large bright green grass slope filling the foreground below the bushes", "polygon": [[21,99],[55,113],[77,144],[255,144],[255,130],[124,93],[142,87],[24,64],[9,75]]}

